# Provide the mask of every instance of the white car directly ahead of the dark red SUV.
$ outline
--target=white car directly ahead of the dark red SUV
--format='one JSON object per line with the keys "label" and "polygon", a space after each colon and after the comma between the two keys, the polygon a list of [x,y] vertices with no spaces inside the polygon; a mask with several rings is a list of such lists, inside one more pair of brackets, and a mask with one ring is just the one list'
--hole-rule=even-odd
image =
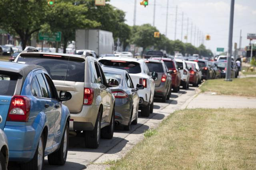
{"label": "white car directly ahead of the dark red SUV", "polygon": [[183,89],[187,90],[189,88],[189,77],[190,77],[190,72],[188,70],[188,66],[183,59],[175,59],[178,69],[180,71],[180,84]]}

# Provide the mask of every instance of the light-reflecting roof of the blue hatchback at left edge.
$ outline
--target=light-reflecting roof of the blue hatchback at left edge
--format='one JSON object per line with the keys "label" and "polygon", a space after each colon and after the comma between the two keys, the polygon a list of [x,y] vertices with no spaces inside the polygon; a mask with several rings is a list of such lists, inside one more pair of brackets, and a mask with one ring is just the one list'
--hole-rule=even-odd
{"label": "light-reflecting roof of the blue hatchback at left edge", "polygon": [[42,66],[38,66],[38,65],[28,65],[28,64],[0,61],[1,71],[14,72],[14,73],[20,74],[23,77],[26,77],[28,73],[30,73],[32,70],[36,68],[45,70]]}

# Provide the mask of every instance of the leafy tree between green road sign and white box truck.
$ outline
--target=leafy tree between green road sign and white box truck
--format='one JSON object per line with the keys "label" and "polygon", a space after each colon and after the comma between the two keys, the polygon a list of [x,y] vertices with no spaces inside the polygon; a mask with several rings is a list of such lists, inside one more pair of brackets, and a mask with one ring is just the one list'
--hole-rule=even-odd
{"label": "leafy tree between green road sign and white box truck", "polygon": [[51,30],[62,32],[63,53],[66,53],[68,41],[75,39],[76,29],[93,28],[100,25],[86,16],[85,4],[74,5],[72,2],[58,1],[47,12],[47,23]]}

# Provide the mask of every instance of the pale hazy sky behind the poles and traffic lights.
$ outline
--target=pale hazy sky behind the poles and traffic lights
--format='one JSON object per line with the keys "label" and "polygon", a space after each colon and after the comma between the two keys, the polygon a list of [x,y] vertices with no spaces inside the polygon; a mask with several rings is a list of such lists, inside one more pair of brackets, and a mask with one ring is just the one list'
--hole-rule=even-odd
{"label": "pale hazy sky behind the poles and traffic lights", "polygon": [[[110,4],[118,9],[126,12],[126,23],[134,24],[134,1],[135,0],[110,0]],[[136,25],[150,23],[153,25],[154,0],[149,0],[149,6],[146,8],[140,5],[141,0],[136,0]],[[228,30],[230,18],[230,2],[231,0],[156,0],[156,16],[155,26],[162,34],[166,34],[166,14],[168,5],[168,26],[167,37],[174,40],[175,37],[175,17],[176,6],[177,10],[177,26],[176,39],[181,39],[186,42],[184,35],[187,34],[188,28],[188,43],[198,46],[202,42],[197,38],[197,30],[202,32],[202,37],[210,35],[211,40],[204,40],[206,48],[218,54],[217,47],[228,49]],[[183,29],[182,29],[182,12],[183,12]],[[196,26],[196,39],[195,36]],[[256,0],[235,0],[234,10],[234,29],[233,43],[238,43],[240,30],[242,29],[242,43],[244,48],[249,44],[247,33],[256,33]],[[182,31],[183,30],[183,31]],[[192,30],[192,39],[191,39]],[[182,35],[182,37],[181,37]],[[253,40],[252,43],[256,43]]]}

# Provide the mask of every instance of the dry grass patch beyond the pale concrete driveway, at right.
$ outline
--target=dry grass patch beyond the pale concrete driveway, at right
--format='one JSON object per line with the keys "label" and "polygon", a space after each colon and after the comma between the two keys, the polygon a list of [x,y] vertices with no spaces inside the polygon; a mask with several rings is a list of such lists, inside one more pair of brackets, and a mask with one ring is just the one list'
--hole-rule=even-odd
{"label": "dry grass patch beyond the pale concrete driveway, at right", "polygon": [[207,80],[200,89],[202,92],[256,97],[256,78],[234,78],[232,82],[224,79]]}

